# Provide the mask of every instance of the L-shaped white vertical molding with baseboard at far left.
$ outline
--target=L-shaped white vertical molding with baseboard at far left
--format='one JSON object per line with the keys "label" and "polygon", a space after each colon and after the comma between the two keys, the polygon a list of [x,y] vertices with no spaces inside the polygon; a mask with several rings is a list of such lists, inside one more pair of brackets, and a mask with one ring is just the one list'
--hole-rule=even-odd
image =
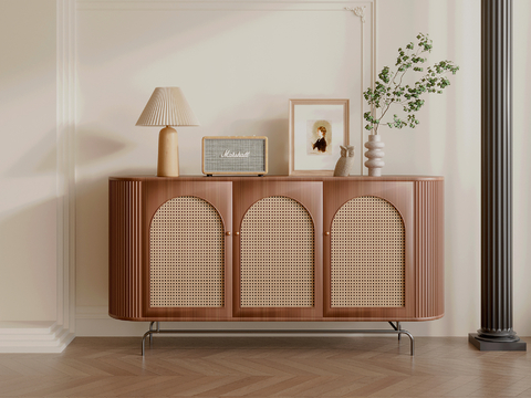
{"label": "L-shaped white vertical molding with baseboard at far left", "polygon": [[75,329],[75,0],[56,0],[56,320],[0,322],[0,353],[61,353]]}

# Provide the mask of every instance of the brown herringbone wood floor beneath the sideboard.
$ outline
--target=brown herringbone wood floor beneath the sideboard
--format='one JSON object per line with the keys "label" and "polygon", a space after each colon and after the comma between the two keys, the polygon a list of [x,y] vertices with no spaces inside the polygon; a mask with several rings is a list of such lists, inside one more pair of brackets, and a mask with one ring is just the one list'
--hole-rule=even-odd
{"label": "brown herringbone wood floor beneath the sideboard", "polygon": [[[528,345],[531,338],[525,338]],[[0,397],[531,397],[531,354],[466,337],[76,338],[0,354]]]}

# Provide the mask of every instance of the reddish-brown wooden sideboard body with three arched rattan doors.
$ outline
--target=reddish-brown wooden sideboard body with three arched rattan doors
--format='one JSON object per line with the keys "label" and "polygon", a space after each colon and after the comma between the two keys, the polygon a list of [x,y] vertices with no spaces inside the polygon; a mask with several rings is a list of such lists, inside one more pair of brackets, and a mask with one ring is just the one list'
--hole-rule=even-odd
{"label": "reddish-brown wooden sideboard body with three arched rattan doors", "polygon": [[444,315],[441,177],[111,177],[127,321]]}

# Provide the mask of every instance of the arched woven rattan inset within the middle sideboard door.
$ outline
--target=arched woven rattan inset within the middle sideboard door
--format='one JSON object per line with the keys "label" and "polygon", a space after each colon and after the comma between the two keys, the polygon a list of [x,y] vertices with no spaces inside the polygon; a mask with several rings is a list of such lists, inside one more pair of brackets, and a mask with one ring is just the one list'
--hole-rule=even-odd
{"label": "arched woven rattan inset within the middle sideboard door", "polygon": [[241,224],[241,306],[314,305],[314,228],[298,201],[259,200]]}

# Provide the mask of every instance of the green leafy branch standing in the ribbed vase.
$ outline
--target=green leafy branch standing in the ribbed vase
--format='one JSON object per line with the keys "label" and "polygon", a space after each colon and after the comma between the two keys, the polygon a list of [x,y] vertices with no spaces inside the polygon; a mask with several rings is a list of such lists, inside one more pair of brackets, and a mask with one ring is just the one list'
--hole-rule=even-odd
{"label": "green leafy branch standing in the ribbed vase", "polygon": [[[427,61],[425,53],[431,52],[433,44],[428,34],[419,33],[417,40],[416,46],[410,42],[405,49],[398,49],[395,69],[391,71],[388,66],[384,66],[374,88],[369,87],[363,93],[364,98],[373,108],[373,112],[366,112],[363,115],[367,122],[365,128],[372,130],[373,134],[378,134],[381,124],[391,128],[415,128],[419,123],[415,113],[425,104],[424,95],[442,94],[442,91],[450,85],[447,74],[456,74],[459,71],[459,66],[451,61],[440,61],[425,71],[423,67]],[[421,73],[421,77],[413,85],[403,85],[404,75],[408,71]],[[400,118],[394,114],[393,121],[384,123],[383,119],[393,105],[402,105],[407,116]]]}

